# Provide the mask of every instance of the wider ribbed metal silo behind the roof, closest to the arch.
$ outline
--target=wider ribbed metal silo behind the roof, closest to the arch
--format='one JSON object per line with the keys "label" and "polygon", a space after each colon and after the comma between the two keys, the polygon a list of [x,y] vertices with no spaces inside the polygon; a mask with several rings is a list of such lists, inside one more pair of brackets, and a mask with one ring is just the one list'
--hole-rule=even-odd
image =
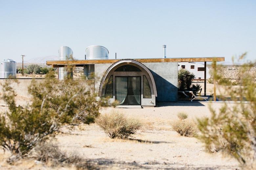
{"label": "wider ribbed metal silo behind the roof, closest to the arch", "polygon": [[[101,45],[92,45],[85,49],[86,59],[108,59],[109,51]],[[84,76],[87,79],[94,78],[94,64],[84,65]]]}

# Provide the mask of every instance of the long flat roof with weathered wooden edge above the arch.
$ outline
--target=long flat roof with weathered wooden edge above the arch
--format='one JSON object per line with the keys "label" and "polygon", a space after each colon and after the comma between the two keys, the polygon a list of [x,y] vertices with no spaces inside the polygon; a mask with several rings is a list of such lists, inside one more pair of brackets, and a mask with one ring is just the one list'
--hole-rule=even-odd
{"label": "long flat roof with weathered wooden edge above the arch", "polygon": [[[63,67],[64,65],[75,65],[76,67],[84,64],[103,64],[115,63],[123,59],[84,59],[84,60],[54,60],[46,61],[47,65],[53,67]],[[138,62],[202,62],[202,61],[224,61],[224,57],[197,57],[197,58],[155,58],[155,59],[133,59]]]}

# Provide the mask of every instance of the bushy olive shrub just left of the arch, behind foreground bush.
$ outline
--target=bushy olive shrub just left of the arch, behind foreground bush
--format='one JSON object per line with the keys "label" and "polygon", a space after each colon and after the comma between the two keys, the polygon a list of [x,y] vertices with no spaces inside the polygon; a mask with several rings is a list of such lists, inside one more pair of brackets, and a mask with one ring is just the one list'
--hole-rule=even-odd
{"label": "bushy olive shrub just left of the arch, behind foreground bush", "polygon": [[[64,83],[58,85],[55,93],[49,94],[49,100],[45,103],[57,114],[63,111],[69,112],[73,121],[78,120],[86,124],[94,123],[95,118],[99,115],[99,108],[105,103],[105,100],[96,100],[97,95],[92,93],[93,84],[84,87],[81,81],[83,80],[66,79]],[[75,115],[74,118],[73,115]],[[67,119],[70,118],[67,117]]]}

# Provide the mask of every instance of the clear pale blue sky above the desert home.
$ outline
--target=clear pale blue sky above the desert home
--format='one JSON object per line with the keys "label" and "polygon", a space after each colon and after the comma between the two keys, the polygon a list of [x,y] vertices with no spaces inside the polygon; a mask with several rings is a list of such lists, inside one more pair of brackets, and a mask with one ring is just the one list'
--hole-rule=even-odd
{"label": "clear pale blue sky above the desert home", "polygon": [[[61,45],[84,59],[103,45],[109,58],[256,59],[256,1],[0,0],[1,60],[58,55]],[[25,60],[26,60],[25,59]]]}

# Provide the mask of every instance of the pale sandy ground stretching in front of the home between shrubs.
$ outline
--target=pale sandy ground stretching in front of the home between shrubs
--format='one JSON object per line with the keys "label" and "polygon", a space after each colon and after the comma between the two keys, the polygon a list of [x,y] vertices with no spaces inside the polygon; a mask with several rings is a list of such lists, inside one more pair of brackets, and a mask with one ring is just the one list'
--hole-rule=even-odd
{"label": "pale sandy ground stretching in front of the home between shrubs", "polygon": [[[57,143],[68,155],[79,155],[100,169],[239,169],[233,158],[205,152],[203,144],[196,138],[179,136],[170,126],[181,111],[188,113],[190,119],[209,116],[208,104],[178,102],[143,109],[102,108],[101,113],[116,110],[138,118],[145,125],[128,140],[110,139],[95,124],[80,125],[73,130],[62,129],[63,133],[56,136]],[[218,109],[222,104],[211,105]],[[51,169],[34,160],[8,165],[5,162],[7,156],[8,153],[0,151],[0,169]]]}

